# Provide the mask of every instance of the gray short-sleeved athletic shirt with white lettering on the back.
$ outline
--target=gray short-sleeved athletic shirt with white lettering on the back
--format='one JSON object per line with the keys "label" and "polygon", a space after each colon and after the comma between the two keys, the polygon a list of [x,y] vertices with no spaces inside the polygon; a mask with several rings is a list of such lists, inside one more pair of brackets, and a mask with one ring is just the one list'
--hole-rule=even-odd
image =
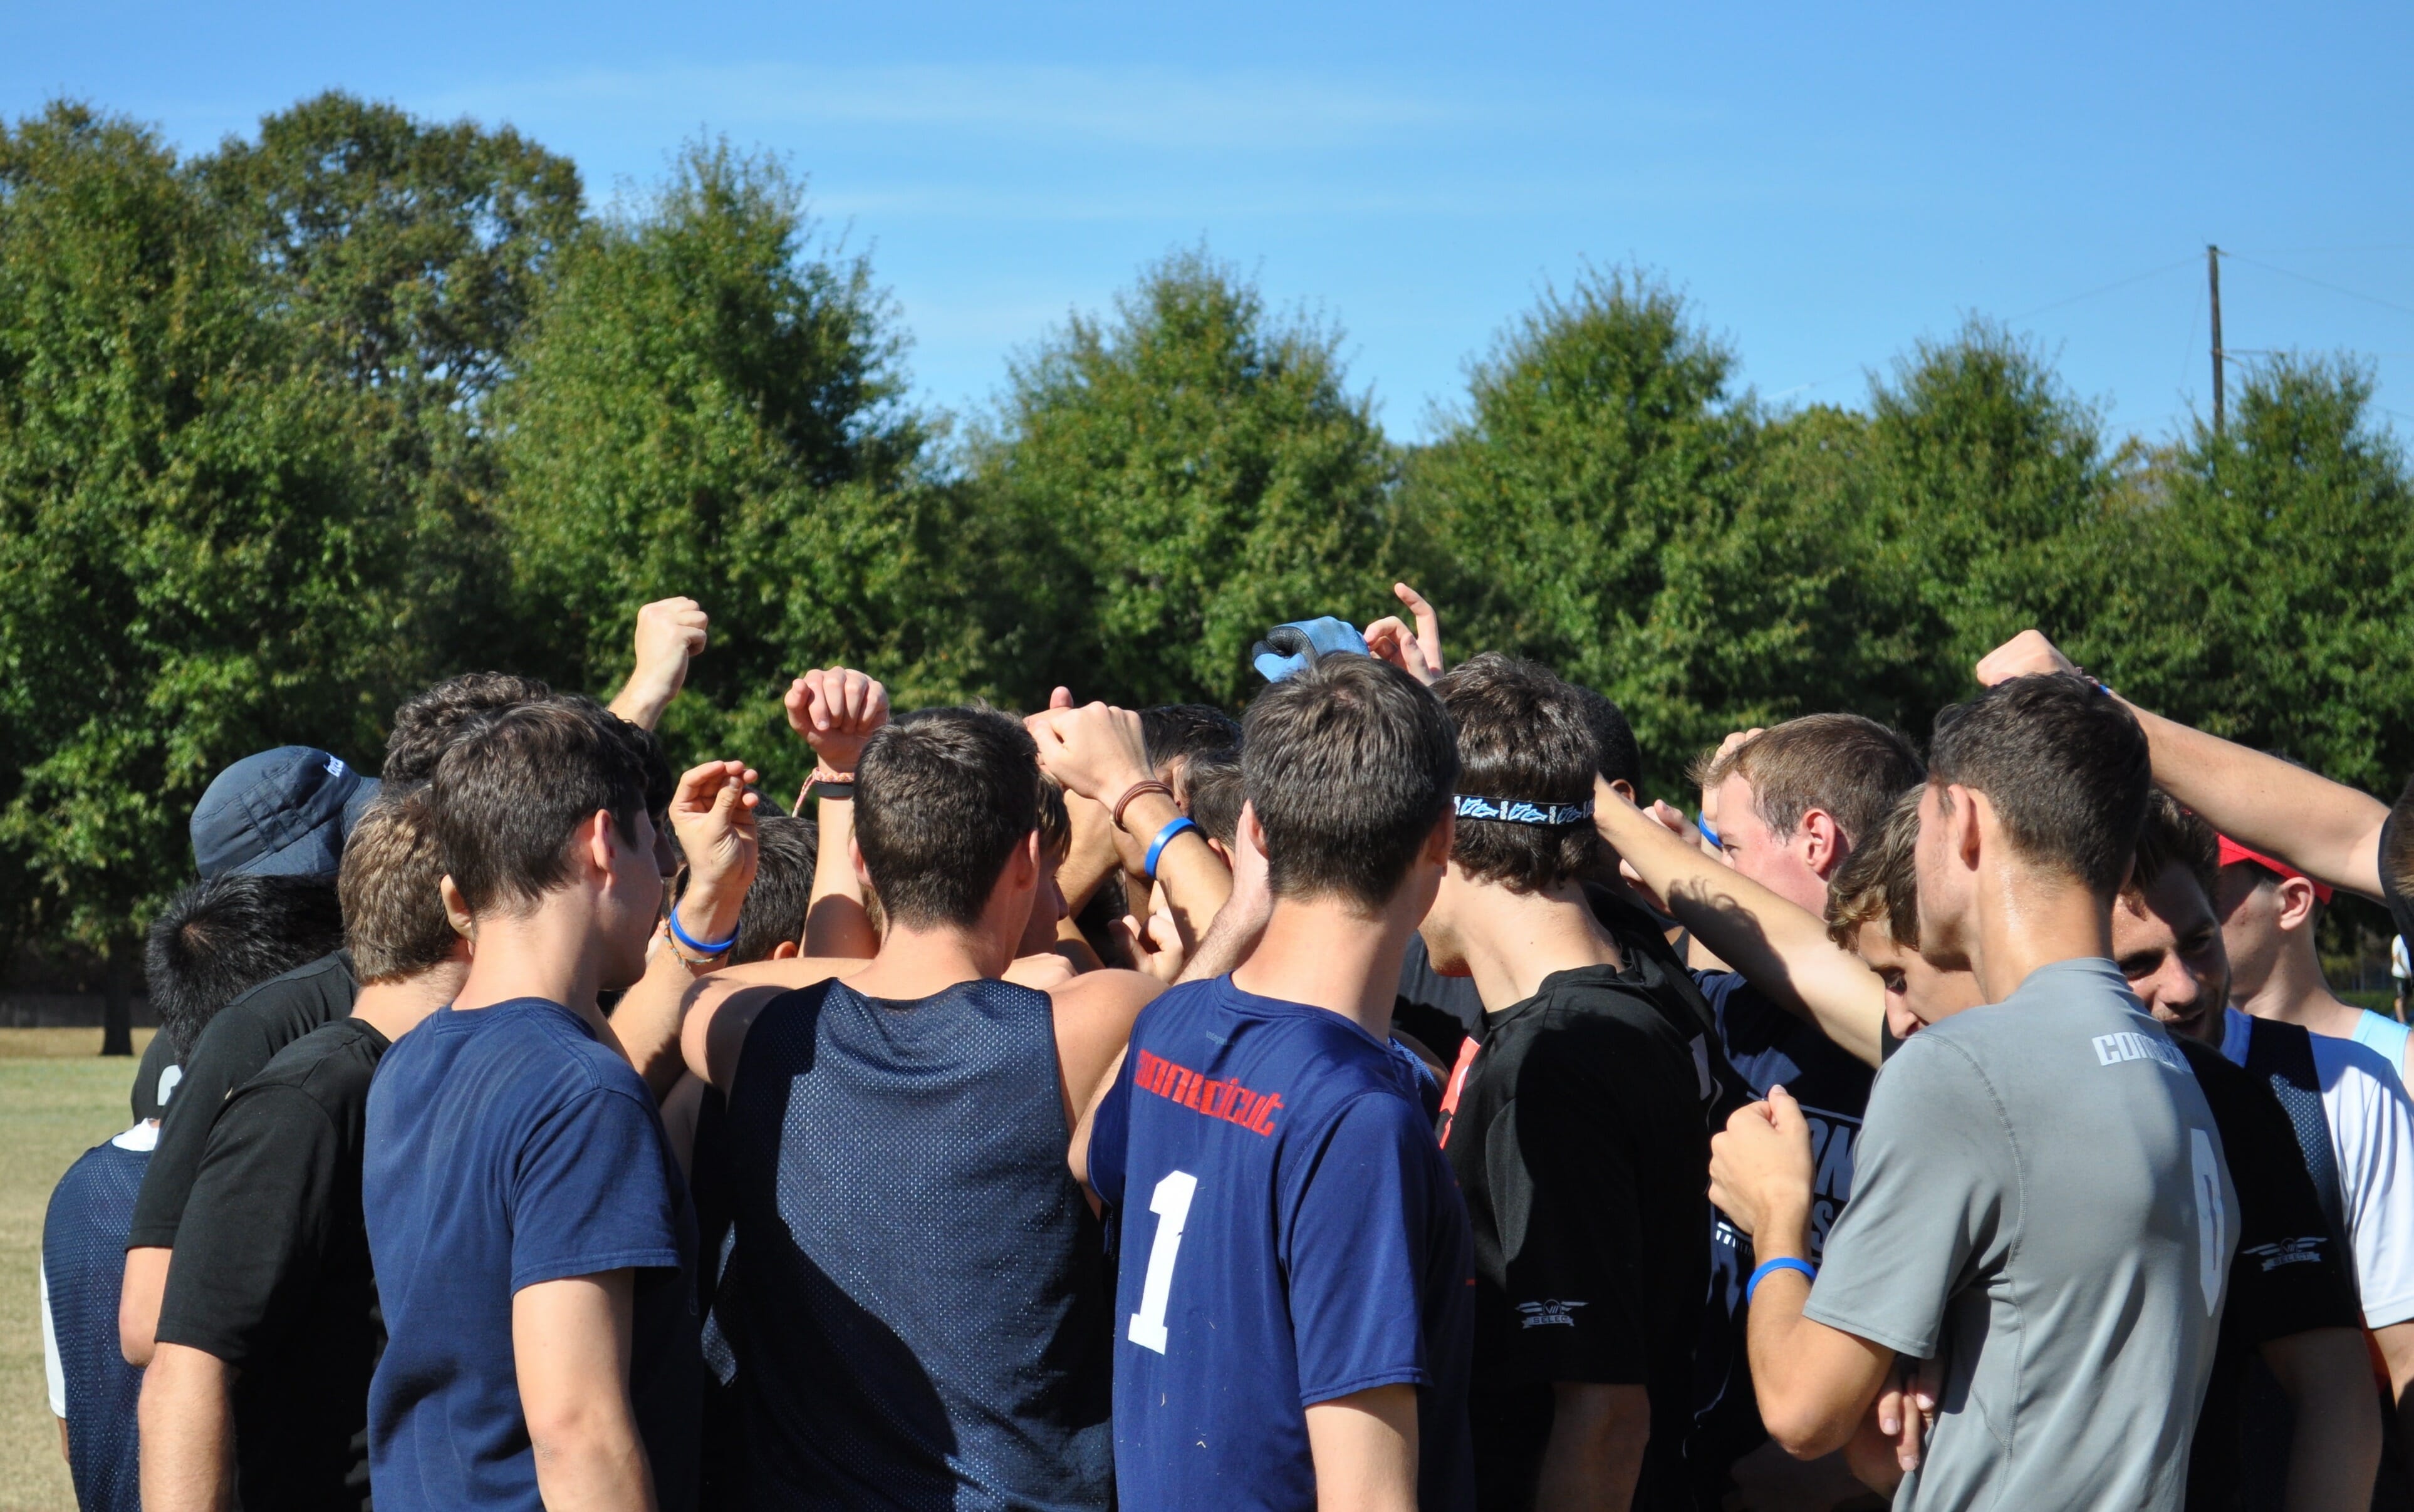
{"label": "gray short-sleeved athletic shirt with white lettering on the back", "polygon": [[1803,1307],[1943,1360],[1895,1512],[2177,1510],[2235,1213],[2197,1078],[2107,960],[1895,1051]]}

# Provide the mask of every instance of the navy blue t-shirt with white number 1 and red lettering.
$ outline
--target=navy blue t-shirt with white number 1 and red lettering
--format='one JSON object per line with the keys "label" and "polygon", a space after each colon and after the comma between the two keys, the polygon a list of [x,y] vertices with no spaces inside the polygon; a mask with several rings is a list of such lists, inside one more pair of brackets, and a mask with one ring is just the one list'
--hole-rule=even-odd
{"label": "navy blue t-shirt with white number 1 and red lettering", "polygon": [[1125,1507],[1311,1507],[1306,1408],[1388,1384],[1417,1387],[1419,1507],[1473,1507],[1475,1252],[1410,1078],[1229,977],[1139,1013],[1089,1143]]}

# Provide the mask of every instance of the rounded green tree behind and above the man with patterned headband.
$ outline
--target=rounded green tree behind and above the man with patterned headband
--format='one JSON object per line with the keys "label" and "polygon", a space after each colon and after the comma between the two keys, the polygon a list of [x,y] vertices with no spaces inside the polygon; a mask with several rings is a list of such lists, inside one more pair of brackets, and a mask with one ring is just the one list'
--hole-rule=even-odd
{"label": "rounded green tree behind and above the man with patterned headband", "polygon": [[[1666,285],[1588,270],[1509,326],[1407,475],[1448,639],[1617,699],[1663,786],[1731,728],[1827,707],[1844,569],[1791,490],[1757,485],[1731,374]],[[1856,432],[1803,420],[1791,463],[1823,456],[1815,427]]]}

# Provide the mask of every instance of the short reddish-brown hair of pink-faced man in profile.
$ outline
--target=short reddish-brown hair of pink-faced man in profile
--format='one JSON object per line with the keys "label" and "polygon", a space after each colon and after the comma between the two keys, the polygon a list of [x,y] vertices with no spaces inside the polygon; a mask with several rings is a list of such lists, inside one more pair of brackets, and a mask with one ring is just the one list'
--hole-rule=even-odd
{"label": "short reddish-brown hair of pink-faced man in profile", "polygon": [[1779,839],[1801,830],[1813,808],[1835,817],[1844,844],[1861,844],[1895,808],[1902,789],[1926,781],[1909,738],[1859,714],[1803,714],[1769,726],[1724,757],[1702,752],[1695,784],[1728,776],[1753,784],[1753,813]]}

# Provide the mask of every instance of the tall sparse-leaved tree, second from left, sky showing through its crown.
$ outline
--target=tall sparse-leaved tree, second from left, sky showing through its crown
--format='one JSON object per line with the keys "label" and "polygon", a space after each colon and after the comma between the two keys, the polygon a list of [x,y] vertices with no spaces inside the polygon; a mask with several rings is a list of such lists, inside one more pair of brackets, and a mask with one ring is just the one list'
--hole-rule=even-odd
{"label": "tall sparse-leaved tree, second from left, sky showing through its crown", "polygon": [[249,234],[295,352],[362,400],[355,439],[410,523],[393,637],[427,675],[490,663],[509,593],[485,410],[579,232],[577,166],[507,125],[328,92],[193,171]]}

